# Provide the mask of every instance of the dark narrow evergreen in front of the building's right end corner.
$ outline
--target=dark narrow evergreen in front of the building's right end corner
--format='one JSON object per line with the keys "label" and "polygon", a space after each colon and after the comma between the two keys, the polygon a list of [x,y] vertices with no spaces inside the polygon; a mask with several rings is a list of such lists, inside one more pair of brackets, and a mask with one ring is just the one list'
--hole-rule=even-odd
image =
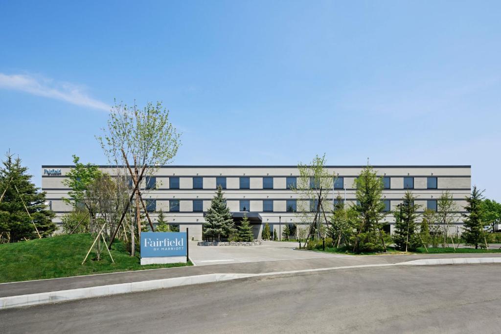
{"label": "dark narrow evergreen in front of the building's right end corner", "polygon": [[475,249],[478,249],[479,244],[482,245],[482,241],[485,238],[482,221],[482,193],[483,191],[473,186],[470,196],[466,197],[467,204],[464,207],[468,213],[462,214],[464,217],[464,226],[461,236],[465,244],[475,246]]}

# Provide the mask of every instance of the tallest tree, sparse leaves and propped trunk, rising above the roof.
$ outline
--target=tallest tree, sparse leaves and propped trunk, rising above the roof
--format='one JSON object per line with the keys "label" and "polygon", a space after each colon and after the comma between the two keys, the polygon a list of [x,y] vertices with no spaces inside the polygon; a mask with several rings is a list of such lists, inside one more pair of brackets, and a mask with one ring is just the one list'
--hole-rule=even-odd
{"label": "tallest tree, sparse leaves and propped trunk, rising above the roof", "polygon": [[[125,104],[115,103],[114,110],[109,116],[108,128],[103,129],[103,132],[103,136],[96,136],[96,139],[101,144],[108,161],[117,166],[117,173],[119,166],[126,166],[133,181],[131,199],[135,196],[135,223],[138,224],[136,229],[134,221],[131,221],[131,239],[134,244],[134,231],[138,231],[138,237],[141,231],[141,208],[153,230],[153,224],[141,196],[140,184],[143,176],[145,173],[153,175],[159,166],[167,164],[174,158],[180,145],[180,135],[169,122],[169,112],[160,102],[156,105],[148,102],[142,110],[135,104],[129,108]],[[127,202],[124,211],[127,210],[129,203]],[[123,216],[120,220],[122,219]],[[118,228],[119,226],[115,229],[112,239]],[[131,255],[133,254],[134,247],[131,251]]]}

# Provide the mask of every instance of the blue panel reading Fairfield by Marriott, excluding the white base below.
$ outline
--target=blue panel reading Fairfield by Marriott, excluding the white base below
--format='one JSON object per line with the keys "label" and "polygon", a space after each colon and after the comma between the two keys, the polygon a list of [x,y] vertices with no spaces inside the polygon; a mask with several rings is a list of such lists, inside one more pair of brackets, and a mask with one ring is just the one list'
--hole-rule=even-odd
{"label": "blue panel reading Fairfield by Marriott, excluding the white base below", "polygon": [[186,256],[186,232],[141,232],[141,257]]}

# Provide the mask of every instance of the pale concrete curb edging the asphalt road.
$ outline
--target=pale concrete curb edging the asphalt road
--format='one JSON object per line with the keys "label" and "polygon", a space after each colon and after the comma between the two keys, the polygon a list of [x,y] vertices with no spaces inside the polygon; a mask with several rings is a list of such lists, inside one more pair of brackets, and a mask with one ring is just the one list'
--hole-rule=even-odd
{"label": "pale concrete curb edging the asphalt road", "polygon": [[94,298],[109,296],[114,294],[132,293],[140,291],[157,290],[168,287],[203,284],[233,280],[247,277],[263,277],[284,274],[297,274],[306,272],[320,272],[338,269],[356,269],[367,267],[389,267],[396,265],[447,265],[447,264],[479,264],[479,263],[501,263],[501,257],[467,257],[467,258],[440,258],[440,259],[420,259],[398,263],[383,263],[383,264],[361,264],[347,265],[329,268],[317,269],[302,269],[290,271],[275,271],[264,273],[215,273],[184,277],[163,278],[131,283],[110,284],[101,286],[91,286],[78,289],[60,290],[33,294],[23,294],[18,296],[8,296],[0,298],[0,310],[48,304],[61,301],[78,300],[85,298]]}

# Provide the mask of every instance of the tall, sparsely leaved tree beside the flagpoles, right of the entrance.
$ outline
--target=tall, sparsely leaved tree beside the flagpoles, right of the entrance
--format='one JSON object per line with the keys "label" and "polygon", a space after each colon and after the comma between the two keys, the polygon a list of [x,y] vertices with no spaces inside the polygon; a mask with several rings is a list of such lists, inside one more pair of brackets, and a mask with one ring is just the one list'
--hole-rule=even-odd
{"label": "tall, sparsely leaved tree beside the flagpoles, right of the entrance", "polygon": [[[310,236],[312,238],[321,238],[320,226],[322,225],[322,221],[325,224],[328,223],[326,221],[327,217],[321,212],[325,209],[324,203],[330,202],[327,199],[328,191],[333,188],[336,174],[329,172],[325,168],[326,163],[325,154],[323,156],[316,155],[307,164],[298,163],[300,176],[297,179],[296,187],[292,187],[292,190],[298,195],[296,216],[302,224],[310,225]],[[322,191],[320,191],[321,189]],[[319,206],[321,207],[318,208]],[[317,212],[317,209],[320,209],[320,212]],[[328,208],[328,211],[330,210]],[[313,225],[312,223],[316,215],[317,220],[315,225]]]}

